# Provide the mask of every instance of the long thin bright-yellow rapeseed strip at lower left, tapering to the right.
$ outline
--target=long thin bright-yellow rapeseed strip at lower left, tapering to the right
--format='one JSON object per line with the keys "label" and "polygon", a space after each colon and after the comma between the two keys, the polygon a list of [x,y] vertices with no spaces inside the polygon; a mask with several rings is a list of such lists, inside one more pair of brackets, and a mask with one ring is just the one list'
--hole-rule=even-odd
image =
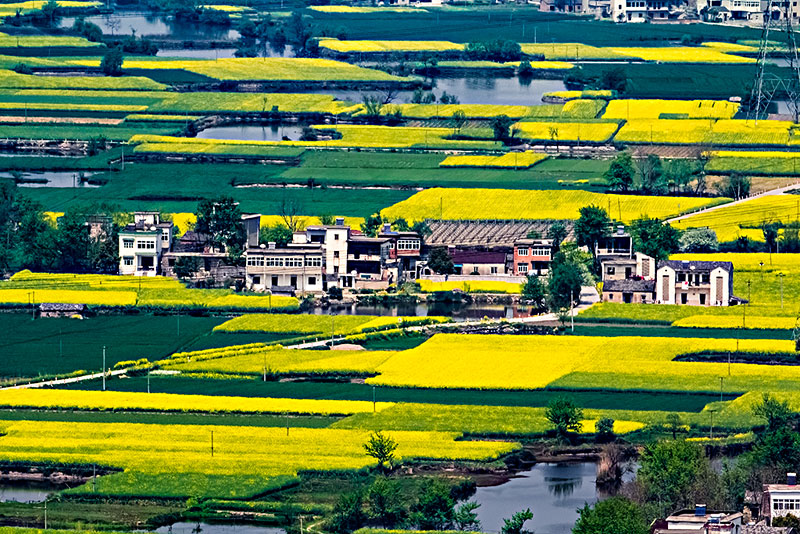
{"label": "long thin bright-yellow rapeseed strip at lower left, tapering to the right", "polygon": [[[392,403],[377,403],[383,410]],[[204,413],[289,413],[349,415],[372,413],[367,401],[178,395],[117,391],[57,391],[49,389],[0,390],[0,406],[6,408],[67,409],[92,411],[164,411]]]}

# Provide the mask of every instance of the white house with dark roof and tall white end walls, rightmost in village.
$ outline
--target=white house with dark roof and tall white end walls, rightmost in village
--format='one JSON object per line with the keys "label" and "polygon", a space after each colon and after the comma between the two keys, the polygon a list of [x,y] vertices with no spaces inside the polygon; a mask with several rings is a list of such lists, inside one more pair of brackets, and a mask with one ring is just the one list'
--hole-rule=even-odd
{"label": "white house with dark roof and tall white end walls, rightmost in village", "polygon": [[656,302],[690,306],[728,306],[733,296],[729,261],[665,260],[656,272]]}

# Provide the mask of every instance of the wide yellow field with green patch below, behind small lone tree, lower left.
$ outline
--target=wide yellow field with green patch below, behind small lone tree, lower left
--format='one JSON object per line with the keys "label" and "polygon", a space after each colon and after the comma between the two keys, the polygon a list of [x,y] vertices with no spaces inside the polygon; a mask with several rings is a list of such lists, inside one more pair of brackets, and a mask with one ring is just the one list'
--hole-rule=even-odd
{"label": "wide yellow field with green patch below, behind small lone tree, lower left", "polygon": [[[94,491],[70,490],[78,494],[246,498],[280,487],[300,471],[375,464],[364,454],[369,433],[363,430],[293,428],[287,435],[285,428],[2,420],[0,427],[5,434],[0,459],[124,469],[100,477]],[[518,447],[456,441],[458,433],[389,434],[406,460],[491,460]]]}

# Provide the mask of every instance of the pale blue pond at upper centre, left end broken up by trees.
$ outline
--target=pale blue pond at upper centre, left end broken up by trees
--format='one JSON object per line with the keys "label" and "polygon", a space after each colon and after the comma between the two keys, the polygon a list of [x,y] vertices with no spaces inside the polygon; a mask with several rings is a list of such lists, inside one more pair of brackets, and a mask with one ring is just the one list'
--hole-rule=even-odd
{"label": "pale blue pond at upper centre, left end broken up by trees", "polygon": [[[455,95],[461,104],[503,104],[509,106],[536,106],[542,103],[542,94],[566,89],[562,80],[526,80],[519,78],[436,78],[433,93],[437,100],[442,93]],[[339,100],[361,102],[362,93],[355,90],[331,91],[319,89],[313,93],[330,94]],[[413,91],[400,91],[394,103],[411,102]]]}

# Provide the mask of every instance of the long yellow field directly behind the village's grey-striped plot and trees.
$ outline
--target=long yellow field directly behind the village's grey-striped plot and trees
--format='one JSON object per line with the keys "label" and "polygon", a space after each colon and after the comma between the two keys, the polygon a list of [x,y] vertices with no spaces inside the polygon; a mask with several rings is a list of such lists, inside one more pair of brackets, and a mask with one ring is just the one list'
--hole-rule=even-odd
{"label": "long yellow field directly behind the village's grey-striped plot and trees", "polygon": [[664,218],[725,199],[605,195],[588,191],[442,189],[420,191],[382,210],[389,220],[422,219],[577,219],[578,210],[595,204],[618,221],[641,216]]}

